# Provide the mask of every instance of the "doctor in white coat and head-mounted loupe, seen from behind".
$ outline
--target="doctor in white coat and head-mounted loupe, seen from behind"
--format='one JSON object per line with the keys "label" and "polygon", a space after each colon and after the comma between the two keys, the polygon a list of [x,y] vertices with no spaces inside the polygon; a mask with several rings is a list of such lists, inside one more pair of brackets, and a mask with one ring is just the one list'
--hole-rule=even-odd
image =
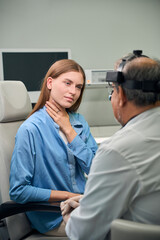
{"label": "doctor in white coat and head-mounted loupe, seen from behind", "polygon": [[160,62],[134,51],[115,68],[107,81],[122,128],[100,145],[84,196],[61,203],[71,240],[109,239],[116,218],[160,224]]}

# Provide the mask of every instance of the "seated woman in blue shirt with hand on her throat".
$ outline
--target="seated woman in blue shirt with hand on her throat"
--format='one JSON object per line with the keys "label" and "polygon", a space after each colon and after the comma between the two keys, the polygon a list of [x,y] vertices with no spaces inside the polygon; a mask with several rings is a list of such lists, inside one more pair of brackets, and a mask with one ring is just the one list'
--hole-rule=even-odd
{"label": "seated woman in blue shirt with hand on her throat", "polygon": [[[48,70],[38,102],[16,135],[12,200],[62,201],[84,192],[84,174],[89,173],[97,150],[87,122],[76,113],[84,87],[84,71],[73,60],[57,61]],[[60,213],[28,212],[27,216],[39,232],[65,235]]]}

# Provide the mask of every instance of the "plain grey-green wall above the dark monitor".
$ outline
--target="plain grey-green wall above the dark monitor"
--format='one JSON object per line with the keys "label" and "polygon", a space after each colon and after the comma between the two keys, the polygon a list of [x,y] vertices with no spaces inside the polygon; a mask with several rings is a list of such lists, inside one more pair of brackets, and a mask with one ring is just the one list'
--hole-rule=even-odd
{"label": "plain grey-green wall above the dark monitor", "polygon": [[0,0],[0,48],[70,48],[85,69],[160,58],[160,0]]}

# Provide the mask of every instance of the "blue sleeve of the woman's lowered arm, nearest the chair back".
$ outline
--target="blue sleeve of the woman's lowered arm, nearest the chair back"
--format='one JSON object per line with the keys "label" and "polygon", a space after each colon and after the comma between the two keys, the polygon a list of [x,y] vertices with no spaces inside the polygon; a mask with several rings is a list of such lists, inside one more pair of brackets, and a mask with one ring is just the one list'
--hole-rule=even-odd
{"label": "blue sleeve of the woman's lowered arm, nearest the chair back", "polygon": [[19,129],[10,167],[10,198],[19,203],[48,201],[51,190],[32,186],[34,141],[27,129]]}

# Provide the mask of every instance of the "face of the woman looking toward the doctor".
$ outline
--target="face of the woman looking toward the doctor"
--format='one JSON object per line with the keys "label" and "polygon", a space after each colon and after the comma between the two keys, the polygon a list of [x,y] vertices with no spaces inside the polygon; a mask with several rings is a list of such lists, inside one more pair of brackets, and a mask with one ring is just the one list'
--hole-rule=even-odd
{"label": "face of the woman looking toward the doctor", "polygon": [[51,90],[49,101],[54,100],[63,108],[70,108],[78,100],[84,84],[80,72],[67,72],[58,78],[47,79],[47,87]]}

